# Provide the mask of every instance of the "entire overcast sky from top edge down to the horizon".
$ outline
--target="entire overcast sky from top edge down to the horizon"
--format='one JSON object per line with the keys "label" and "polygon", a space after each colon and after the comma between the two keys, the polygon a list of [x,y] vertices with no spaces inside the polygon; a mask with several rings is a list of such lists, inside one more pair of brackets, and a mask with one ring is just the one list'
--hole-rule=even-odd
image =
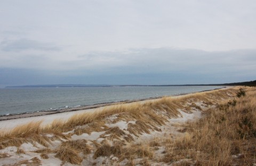
{"label": "entire overcast sky from top edge down to the horizon", "polygon": [[1,0],[0,88],[256,80],[254,0]]}

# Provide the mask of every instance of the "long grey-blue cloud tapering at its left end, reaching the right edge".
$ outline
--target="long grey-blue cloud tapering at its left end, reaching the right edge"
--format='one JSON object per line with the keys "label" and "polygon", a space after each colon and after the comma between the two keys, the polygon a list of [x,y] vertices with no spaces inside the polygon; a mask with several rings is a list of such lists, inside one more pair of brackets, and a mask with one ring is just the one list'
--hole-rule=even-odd
{"label": "long grey-blue cloud tapering at its left end, reaching the right edge", "polygon": [[[129,49],[115,52],[94,52],[85,54],[77,60],[77,65],[87,61],[93,64],[94,71],[103,68],[114,73],[170,73],[197,72],[221,73],[253,71],[256,64],[256,50],[232,50],[208,52],[195,49]],[[93,59],[109,59],[108,63],[99,63]]]}

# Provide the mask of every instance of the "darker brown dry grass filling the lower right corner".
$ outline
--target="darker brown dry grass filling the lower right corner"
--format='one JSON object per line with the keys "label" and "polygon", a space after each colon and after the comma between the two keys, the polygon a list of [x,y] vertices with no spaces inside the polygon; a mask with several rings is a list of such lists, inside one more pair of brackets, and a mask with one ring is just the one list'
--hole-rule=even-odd
{"label": "darker brown dry grass filling the lower right corner", "polygon": [[162,161],[173,163],[190,159],[186,163],[253,165],[256,155],[255,88],[248,88],[245,97],[235,100],[233,105],[220,104],[207,110],[204,119],[188,123],[185,136],[172,141],[166,139],[162,143],[166,146]]}

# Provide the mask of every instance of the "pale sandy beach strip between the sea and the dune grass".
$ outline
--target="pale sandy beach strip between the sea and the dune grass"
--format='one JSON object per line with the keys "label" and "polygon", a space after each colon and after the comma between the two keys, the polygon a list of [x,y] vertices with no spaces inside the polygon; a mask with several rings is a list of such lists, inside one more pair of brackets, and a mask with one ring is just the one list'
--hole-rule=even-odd
{"label": "pale sandy beach strip between the sea and the dune grass", "polygon": [[[201,92],[207,92],[207,91],[212,91],[212,90],[206,90]],[[193,92],[193,93],[198,93],[198,92]],[[189,95],[193,93],[176,94],[176,95],[171,95],[170,97],[179,98],[181,96]],[[118,104],[134,104],[134,103],[142,104],[145,102],[157,101],[158,99],[161,99],[161,98],[163,97],[100,103],[100,104],[93,104],[91,106],[67,108],[67,109],[61,109],[56,111],[39,111],[39,112],[31,112],[31,113],[22,113],[18,115],[0,116],[0,130],[11,129],[11,128],[17,127],[18,125],[23,125],[31,121],[42,120],[42,125],[48,125],[48,124],[51,124],[52,121],[57,119],[67,120],[70,117],[76,115],[77,113],[93,112],[96,110],[108,109],[109,107],[116,106]]]}

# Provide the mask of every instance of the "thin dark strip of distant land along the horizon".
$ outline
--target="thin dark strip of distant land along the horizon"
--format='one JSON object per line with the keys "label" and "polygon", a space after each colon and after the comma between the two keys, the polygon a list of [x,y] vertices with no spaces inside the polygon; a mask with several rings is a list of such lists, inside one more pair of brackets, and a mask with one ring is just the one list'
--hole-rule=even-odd
{"label": "thin dark strip of distant land along the horizon", "polygon": [[50,85],[21,85],[6,86],[5,88],[77,88],[77,87],[114,87],[114,86],[256,86],[255,81],[225,84],[183,84],[183,85],[108,85],[108,84],[50,84]]}

